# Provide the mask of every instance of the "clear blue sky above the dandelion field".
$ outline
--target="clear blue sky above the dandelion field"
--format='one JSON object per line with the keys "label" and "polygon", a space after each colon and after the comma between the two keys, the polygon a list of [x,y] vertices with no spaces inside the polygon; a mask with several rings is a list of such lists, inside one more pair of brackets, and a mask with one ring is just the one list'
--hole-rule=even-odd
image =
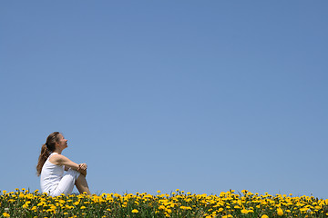
{"label": "clear blue sky above the dandelion field", "polygon": [[0,190],[46,136],[93,193],[328,198],[328,1],[1,1]]}

